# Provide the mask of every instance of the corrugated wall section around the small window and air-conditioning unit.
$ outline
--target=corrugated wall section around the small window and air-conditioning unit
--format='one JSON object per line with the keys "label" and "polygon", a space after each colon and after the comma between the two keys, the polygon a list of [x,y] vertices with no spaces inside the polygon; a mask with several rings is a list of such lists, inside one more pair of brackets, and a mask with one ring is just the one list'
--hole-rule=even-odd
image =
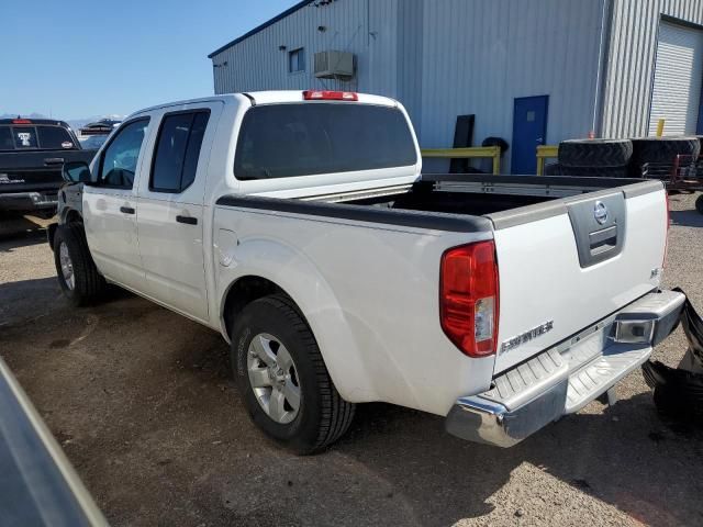
{"label": "corrugated wall section around the small window and air-conditioning unit", "polygon": [[[358,90],[397,92],[399,0],[315,2],[212,57],[215,93],[256,90]],[[319,31],[324,26],[325,31]],[[279,49],[286,46],[286,49]],[[305,48],[305,71],[288,71],[288,53]],[[350,81],[317,79],[314,54],[337,49],[356,55]],[[226,63],[226,64],[225,64]]]}

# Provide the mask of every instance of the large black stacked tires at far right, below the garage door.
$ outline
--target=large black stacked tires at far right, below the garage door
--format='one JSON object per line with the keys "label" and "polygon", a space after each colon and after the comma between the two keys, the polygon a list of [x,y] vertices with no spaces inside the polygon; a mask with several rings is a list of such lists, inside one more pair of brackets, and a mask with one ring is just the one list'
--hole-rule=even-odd
{"label": "large black stacked tires at far right, below the garage door", "polygon": [[681,167],[694,166],[701,154],[701,142],[695,136],[639,137],[632,139],[632,177],[668,179],[677,156]]}

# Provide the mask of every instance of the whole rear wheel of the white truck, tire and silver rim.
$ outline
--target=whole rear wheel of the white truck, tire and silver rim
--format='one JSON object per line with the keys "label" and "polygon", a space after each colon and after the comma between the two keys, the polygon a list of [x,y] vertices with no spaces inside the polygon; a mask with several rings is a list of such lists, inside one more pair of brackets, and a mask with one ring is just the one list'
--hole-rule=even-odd
{"label": "whole rear wheel of the white truck, tire and silver rim", "polygon": [[312,332],[287,296],[256,300],[236,317],[232,365],[254,423],[294,452],[322,450],[349,427],[355,405],[337,393]]}

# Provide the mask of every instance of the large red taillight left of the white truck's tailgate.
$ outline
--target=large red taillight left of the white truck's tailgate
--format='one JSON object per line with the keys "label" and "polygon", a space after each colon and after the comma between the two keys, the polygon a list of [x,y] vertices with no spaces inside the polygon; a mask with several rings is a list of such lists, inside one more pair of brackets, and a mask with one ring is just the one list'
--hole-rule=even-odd
{"label": "large red taillight left of the white truck's tailgate", "polygon": [[442,256],[442,329],[469,357],[495,354],[498,293],[493,240],[455,247]]}

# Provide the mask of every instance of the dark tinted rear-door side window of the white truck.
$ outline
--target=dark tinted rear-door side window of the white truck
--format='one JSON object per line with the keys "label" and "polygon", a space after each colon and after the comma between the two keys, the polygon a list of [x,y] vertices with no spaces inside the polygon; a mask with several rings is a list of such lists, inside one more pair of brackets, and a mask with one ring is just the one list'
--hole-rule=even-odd
{"label": "dark tinted rear-door side window of the white truck", "polygon": [[210,112],[164,116],[156,143],[149,190],[180,193],[196,180],[200,147]]}

